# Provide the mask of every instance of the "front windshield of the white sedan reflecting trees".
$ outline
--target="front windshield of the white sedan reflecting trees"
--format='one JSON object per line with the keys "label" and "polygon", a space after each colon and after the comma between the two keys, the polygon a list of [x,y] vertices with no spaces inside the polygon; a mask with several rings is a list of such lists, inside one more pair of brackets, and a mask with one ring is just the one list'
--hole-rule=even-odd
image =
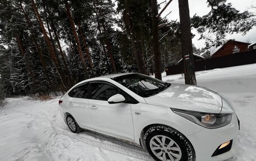
{"label": "front windshield of the white sedan reflecting trees", "polygon": [[149,97],[167,89],[171,84],[153,77],[132,73],[129,75],[113,77],[117,81],[142,97]]}

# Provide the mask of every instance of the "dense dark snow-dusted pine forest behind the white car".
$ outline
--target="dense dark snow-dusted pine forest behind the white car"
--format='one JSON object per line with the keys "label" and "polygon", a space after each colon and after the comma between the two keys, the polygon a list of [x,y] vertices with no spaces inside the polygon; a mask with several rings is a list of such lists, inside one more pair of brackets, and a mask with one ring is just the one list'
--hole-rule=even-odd
{"label": "dense dark snow-dusted pine forest behind the white car", "polygon": [[[226,0],[206,2],[207,15],[190,15],[190,26],[206,41],[203,49],[191,45],[194,53],[256,24],[254,13],[237,11]],[[181,32],[184,21],[162,16],[160,3],[168,1],[0,0],[0,95],[65,92],[82,80],[119,72],[158,73],[161,79],[164,67],[182,58],[182,35],[194,35]],[[188,10],[179,7],[180,13]]]}

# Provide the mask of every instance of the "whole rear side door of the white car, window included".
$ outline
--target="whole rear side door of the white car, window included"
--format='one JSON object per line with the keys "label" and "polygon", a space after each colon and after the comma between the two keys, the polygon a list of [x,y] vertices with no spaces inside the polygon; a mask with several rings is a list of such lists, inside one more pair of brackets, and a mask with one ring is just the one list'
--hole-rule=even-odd
{"label": "whole rear side door of the white car, window included", "polygon": [[93,128],[93,121],[88,107],[88,84],[76,86],[68,93],[68,106],[72,116],[81,127]]}

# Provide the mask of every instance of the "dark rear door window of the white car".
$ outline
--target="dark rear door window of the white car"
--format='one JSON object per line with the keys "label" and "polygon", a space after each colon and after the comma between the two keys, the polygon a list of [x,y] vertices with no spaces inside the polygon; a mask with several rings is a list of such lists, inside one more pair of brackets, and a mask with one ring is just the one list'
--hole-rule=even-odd
{"label": "dark rear door window of the white car", "polygon": [[88,84],[75,87],[68,95],[75,98],[88,98]]}

